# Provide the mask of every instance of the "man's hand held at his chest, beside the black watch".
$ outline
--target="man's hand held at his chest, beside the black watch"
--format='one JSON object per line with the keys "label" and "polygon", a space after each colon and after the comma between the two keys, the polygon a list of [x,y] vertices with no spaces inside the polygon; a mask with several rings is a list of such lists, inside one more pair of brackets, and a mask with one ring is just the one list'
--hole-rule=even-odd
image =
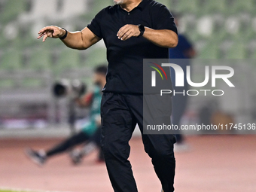
{"label": "man's hand held at his chest, beside the black watch", "polygon": [[139,31],[139,26],[125,25],[119,29],[117,32],[117,37],[122,41],[126,41],[131,37],[138,37],[140,34],[141,32]]}

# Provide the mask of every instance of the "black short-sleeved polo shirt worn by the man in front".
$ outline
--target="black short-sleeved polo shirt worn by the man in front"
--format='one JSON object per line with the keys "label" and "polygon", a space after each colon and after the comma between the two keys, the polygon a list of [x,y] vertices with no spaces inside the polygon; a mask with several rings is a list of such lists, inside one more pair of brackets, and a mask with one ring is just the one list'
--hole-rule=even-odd
{"label": "black short-sleeved polo shirt worn by the man in front", "polygon": [[104,92],[143,93],[143,59],[168,58],[168,48],[158,47],[143,37],[126,41],[117,32],[126,24],[170,29],[177,33],[172,14],[166,6],[153,0],[142,0],[127,12],[120,5],[104,8],[87,26],[107,47],[108,74]]}

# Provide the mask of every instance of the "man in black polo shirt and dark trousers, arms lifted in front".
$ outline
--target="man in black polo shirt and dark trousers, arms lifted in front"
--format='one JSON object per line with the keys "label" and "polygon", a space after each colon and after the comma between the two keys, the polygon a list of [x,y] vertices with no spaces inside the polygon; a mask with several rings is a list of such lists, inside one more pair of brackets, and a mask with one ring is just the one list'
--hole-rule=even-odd
{"label": "man in black polo shirt and dark trousers, arms lifted in front", "polygon": [[[38,38],[60,38],[67,47],[78,50],[103,38],[108,74],[102,96],[102,149],[114,191],[136,192],[127,159],[136,123],[143,132],[143,59],[168,58],[168,48],[177,45],[178,35],[172,14],[164,5],[153,0],[114,3],[96,14],[81,32],[47,26],[39,31]],[[173,191],[175,136],[142,134],[142,140],[163,190]]]}

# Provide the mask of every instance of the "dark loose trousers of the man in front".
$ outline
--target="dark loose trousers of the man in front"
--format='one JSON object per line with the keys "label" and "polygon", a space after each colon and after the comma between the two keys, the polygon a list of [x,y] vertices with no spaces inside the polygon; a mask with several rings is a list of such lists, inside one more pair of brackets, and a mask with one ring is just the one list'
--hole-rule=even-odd
{"label": "dark loose trousers of the man in front", "polygon": [[[145,105],[145,104],[144,104]],[[102,150],[115,192],[136,192],[129,141],[136,123],[143,133],[143,96],[104,93],[102,96]],[[142,134],[145,151],[165,192],[174,191],[175,157],[173,135]]]}

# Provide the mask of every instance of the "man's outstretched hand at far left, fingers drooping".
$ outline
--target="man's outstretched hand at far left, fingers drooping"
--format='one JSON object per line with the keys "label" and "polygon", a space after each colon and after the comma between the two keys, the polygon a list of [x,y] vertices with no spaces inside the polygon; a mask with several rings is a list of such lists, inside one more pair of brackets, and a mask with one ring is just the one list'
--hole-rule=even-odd
{"label": "man's outstretched hand at far left, fingers drooping", "polygon": [[46,26],[38,32],[38,39],[43,38],[43,42],[49,38],[61,38],[64,36],[66,31],[58,26]]}

